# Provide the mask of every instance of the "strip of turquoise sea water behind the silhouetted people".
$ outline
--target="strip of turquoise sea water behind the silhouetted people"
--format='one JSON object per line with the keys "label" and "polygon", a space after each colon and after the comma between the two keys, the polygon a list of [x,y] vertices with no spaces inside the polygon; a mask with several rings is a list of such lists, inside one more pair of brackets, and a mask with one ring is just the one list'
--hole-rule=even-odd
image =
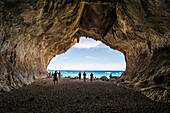
{"label": "strip of turquoise sea water behind the silhouetted people", "polygon": [[[55,70],[48,70],[49,73],[54,73]],[[63,75],[63,77],[70,76],[75,77],[78,76],[79,72],[81,72],[81,77],[83,77],[83,72],[80,70],[58,70]],[[90,74],[93,73],[93,76],[96,78],[100,78],[101,76],[106,76],[109,78],[110,74],[112,76],[121,76],[124,71],[85,71],[86,77],[90,77]]]}

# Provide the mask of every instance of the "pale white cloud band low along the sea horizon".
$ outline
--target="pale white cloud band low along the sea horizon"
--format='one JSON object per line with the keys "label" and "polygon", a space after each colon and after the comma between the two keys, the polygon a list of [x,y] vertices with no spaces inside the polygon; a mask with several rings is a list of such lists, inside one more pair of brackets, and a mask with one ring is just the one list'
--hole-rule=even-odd
{"label": "pale white cloud band low along the sea horizon", "polygon": [[48,67],[51,70],[125,70],[126,66],[121,64],[61,64]]}

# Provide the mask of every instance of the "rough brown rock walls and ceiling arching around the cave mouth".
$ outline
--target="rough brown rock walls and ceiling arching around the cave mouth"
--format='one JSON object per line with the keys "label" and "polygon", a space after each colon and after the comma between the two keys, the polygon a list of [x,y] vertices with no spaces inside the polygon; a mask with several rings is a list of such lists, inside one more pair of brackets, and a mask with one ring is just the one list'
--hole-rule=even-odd
{"label": "rough brown rock walls and ceiling arching around the cave mouth", "polygon": [[0,89],[46,75],[50,60],[80,36],[124,53],[124,87],[168,102],[169,0],[1,0]]}

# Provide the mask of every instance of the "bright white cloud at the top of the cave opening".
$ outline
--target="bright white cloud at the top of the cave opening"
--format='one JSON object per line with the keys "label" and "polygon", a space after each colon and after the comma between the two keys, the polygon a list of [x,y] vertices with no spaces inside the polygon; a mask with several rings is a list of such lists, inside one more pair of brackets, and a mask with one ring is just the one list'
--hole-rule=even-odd
{"label": "bright white cloud at the top of the cave opening", "polygon": [[82,37],[80,39],[79,43],[76,43],[73,47],[75,48],[106,48],[107,46],[105,46],[104,44],[102,44],[101,41],[95,41],[93,39],[90,38],[84,38]]}

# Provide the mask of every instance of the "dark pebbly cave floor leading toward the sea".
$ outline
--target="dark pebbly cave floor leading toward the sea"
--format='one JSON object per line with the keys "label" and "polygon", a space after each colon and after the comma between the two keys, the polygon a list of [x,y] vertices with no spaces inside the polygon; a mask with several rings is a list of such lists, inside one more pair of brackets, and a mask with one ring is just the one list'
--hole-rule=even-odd
{"label": "dark pebbly cave floor leading toward the sea", "polygon": [[38,79],[10,92],[0,93],[0,112],[138,112],[168,113],[170,107],[113,82]]}

